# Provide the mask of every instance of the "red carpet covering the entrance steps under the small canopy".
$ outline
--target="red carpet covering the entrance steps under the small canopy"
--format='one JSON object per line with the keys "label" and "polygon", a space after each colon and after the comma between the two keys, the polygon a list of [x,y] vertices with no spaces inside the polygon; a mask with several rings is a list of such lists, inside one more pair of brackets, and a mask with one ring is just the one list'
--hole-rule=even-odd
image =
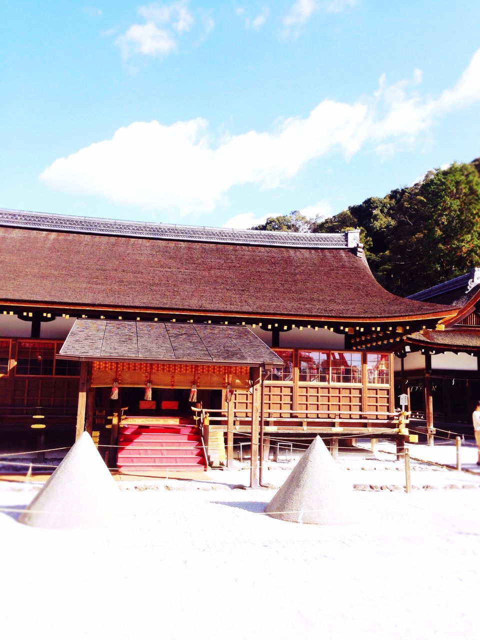
{"label": "red carpet covering the entrance steps under the small canopy", "polygon": [[152,420],[149,426],[143,418],[136,425],[130,418],[129,424],[119,429],[117,467],[129,471],[206,469],[200,430],[189,419],[177,418],[175,422],[158,424]]}

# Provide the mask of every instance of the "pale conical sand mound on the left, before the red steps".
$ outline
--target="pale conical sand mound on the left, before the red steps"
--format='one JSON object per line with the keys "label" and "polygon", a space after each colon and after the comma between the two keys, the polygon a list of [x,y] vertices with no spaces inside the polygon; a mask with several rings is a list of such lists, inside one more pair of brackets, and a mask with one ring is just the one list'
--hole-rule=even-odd
{"label": "pale conical sand mound on the left, before the red steps", "polygon": [[117,524],[120,492],[88,433],[68,451],[19,522],[45,529]]}

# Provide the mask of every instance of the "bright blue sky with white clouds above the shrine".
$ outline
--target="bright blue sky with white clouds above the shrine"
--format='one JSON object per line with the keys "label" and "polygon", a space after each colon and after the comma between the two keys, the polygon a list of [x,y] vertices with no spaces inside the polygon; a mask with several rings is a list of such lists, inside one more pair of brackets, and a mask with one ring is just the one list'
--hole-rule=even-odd
{"label": "bright blue sky with white clouds above the shrine", "polygon": [[476,0],[0,0],[0,207],[248,228],[480,156]]}

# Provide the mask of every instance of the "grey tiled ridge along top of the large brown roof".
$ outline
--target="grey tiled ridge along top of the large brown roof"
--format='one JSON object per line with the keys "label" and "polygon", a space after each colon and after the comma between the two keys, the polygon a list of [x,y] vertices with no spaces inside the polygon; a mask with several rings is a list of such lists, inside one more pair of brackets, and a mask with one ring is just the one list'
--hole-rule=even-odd
{"label": "grey tiled ridge along top of the large brown roof", "polygon": [[300,234],[84,218],[14,209],[0,209],[0,226],[103,236],[309,249],[355,249],[360,243],[359,230],[338,234]]}

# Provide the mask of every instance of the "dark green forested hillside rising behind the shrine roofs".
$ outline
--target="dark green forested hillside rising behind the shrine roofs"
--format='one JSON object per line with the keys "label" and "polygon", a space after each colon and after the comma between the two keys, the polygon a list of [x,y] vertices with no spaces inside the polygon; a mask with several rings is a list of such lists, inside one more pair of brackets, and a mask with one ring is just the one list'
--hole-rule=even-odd
{"label": "dark green forested hillside rising behind the shrine roofs", "polygon": [[480,158],[432,170],[413,186],[367,198],[326,220],[293,211],[253,228],[311,233],[360,228],[377,280],[407,296],[480,266]]}

